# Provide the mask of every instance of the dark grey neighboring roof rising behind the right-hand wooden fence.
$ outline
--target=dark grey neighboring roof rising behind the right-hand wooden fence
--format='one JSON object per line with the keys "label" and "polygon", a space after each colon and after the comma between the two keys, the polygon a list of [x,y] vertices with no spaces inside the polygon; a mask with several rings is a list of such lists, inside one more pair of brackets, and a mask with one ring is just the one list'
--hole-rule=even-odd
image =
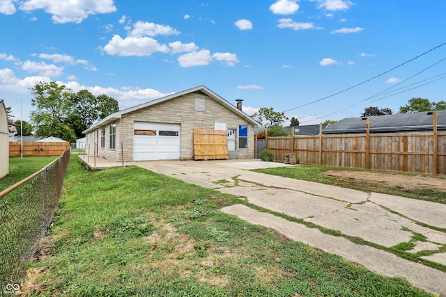
{"label": "dark grey neighboring roof rising behind the right-hand wooden fence", "polygon": [[[436,111],[437,129],[446,130],[446,110]],[[370,119],[370,132],[404,132],[404,131],[432,131],[432,112],[399,113],[396,115],[376,115]],[[345,118],[323,129],[323,134],[366,133],[367,117]]]}

